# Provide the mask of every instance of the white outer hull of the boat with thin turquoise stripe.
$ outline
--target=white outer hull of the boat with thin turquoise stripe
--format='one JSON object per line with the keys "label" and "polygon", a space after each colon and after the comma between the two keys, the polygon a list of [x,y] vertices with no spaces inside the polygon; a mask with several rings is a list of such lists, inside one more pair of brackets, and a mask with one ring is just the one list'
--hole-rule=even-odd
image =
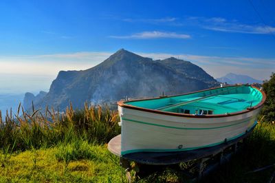
{"label": "white outer hull of the boat with thin turquoise stripe", "polygon": [[221,144],[254,127],[260,109],[219,118],[192,118],[118,106],[122,122],[121,155],[141,151],[188,151]]}

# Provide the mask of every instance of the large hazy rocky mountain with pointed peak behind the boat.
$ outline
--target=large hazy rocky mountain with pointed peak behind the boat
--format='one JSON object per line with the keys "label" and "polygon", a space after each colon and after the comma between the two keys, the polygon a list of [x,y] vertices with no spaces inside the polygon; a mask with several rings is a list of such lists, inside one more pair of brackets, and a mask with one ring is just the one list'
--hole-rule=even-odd
{"label": "large hazy rocky mountain with pointed peak behind the boat", "polygon": [[[90,69],[59,72],[50,92],[34,105],[64,110],[70,101],[79,108],[85,101],[114,103],[126,97],[182,94],[217,85],[217,80],[188,61],[153,61],[122,49]],[[26,99],[26,103],[29,101]]]}

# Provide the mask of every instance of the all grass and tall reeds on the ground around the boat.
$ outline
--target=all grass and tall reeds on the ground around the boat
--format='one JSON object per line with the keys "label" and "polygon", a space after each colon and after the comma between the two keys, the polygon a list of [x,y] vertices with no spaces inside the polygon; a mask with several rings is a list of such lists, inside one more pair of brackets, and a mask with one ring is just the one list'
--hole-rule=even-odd
{"label": "all grass and tall reeds on the ground around the boat", "polygon": [[[5,122],[0,117],[0,182],[126,182],[119,158],[106,145],[120,133],[116,111],[85,104],[83,110],[70,105],[65,113],[28,114],[19,105],[17,114],[5,116]],[[263,122],[247,147],[203,182],[267,182],[274,166],[251,171],[274,164],[274,149],[275,125]],[[182,169],[192,163],[159,166],[135,182],[186,182]]]}

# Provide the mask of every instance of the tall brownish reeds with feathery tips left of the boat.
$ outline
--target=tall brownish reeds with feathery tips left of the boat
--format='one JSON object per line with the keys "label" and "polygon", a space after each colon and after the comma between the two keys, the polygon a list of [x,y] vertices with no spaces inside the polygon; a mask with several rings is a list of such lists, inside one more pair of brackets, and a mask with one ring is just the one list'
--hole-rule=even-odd
{"label": "tall brownish reeds with feathery tips left of the boat", "polygon": [[74,110],[70,103],[65,112],[32,107],[30,113],[19,104],[17,114],[10,110],[4,121],[0,118],[0,149],[14,147],[12,151],[23,151],[78,139],[104,144],[120,133],[118,120],[117,111],[87,103],[80,110]]}

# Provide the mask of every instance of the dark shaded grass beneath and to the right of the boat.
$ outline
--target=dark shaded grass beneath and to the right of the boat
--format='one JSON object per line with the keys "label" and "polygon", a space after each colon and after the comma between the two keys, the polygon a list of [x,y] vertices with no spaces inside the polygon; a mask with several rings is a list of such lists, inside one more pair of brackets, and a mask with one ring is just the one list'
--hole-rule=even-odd
{"label": "dark shaded grass beneath and to the right of the boat", "polygon": [[[252,171],[275,164],[274,149],[275,125],[263,122],[254,129],[245,149],[201,182],[268,182],[275,166],[262,171]],[[188,176],[182,170],[192,163],[164,166],[137,182],[188,182]]]}

